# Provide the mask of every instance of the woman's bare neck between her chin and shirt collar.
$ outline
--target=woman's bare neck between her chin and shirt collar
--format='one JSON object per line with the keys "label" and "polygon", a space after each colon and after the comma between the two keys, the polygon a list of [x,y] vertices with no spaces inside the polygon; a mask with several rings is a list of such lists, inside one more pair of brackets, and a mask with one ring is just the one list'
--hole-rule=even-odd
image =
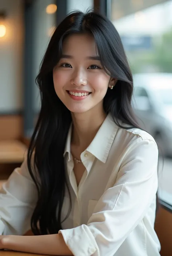
{"label": "woman's bare neck between her chin and shirt collar", "polygon": [[104,111],[87,111],[85,113],[72,113],[73,133],[71,143],[85,150],[95,137],[97,131],[106,118]]}

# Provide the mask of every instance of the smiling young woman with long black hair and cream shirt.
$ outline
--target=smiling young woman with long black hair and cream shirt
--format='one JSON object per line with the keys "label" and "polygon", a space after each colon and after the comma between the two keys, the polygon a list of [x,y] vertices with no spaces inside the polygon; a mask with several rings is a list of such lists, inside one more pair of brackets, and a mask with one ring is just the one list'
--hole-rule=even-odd
{"label": "smiling young woman with long black hair and cream shirt", "polygon": [[[75,12],[54,32],[37,83],[27,160],[0,194],[0,248],[46,255],[158,256],[158,150],[131,107],[114,25]],[[22,236],[32,229],[36,236]]]}

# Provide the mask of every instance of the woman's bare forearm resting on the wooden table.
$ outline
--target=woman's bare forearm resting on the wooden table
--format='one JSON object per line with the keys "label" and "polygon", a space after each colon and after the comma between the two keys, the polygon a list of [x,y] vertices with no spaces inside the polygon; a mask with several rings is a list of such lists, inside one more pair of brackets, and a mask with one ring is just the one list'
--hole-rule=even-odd
{"label": "woman's bare forearm resting on the wooden table", "polygon": [[3,238],[5,249],[45,255],[72,256],[61,234],[44,236],[7,236]]}

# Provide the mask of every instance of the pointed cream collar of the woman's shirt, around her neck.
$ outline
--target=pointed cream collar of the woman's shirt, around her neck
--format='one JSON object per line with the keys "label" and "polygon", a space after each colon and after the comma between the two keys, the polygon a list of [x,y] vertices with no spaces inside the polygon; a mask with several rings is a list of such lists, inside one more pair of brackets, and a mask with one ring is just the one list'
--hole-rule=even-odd
{"label": "pointed cream collar of the woman's shirt, around her neck", "polygon": [[[87,147],[86,151],[90,152],[101,162],[106,163],[109,151],[114,141],[118,126],[115,124],[111,115],[108,114],[105,121],[102,123],[93,141]],[[68,153],[68,160],[70,161],[70,142],[71,142],[72,124],[70,125],[67,135],[67,141],[64,151],[64,156]]]}

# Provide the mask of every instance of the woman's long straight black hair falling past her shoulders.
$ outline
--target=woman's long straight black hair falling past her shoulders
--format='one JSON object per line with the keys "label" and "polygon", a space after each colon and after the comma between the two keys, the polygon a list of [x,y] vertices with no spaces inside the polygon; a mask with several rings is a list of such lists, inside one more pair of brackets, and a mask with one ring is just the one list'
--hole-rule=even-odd
{"label": "woman's long straight black hair falling past her shoulders", "polygon": [[[68,188],[63,154],[72,119],[70,111],[54,90],[53,68],[61,58],[64,39],[76,33],[94,36],[103,68],[118,80],[114,89],[108,89],[105,95],[105,113],[110,113],[114,121],[139,127],[131,105],[132,74],[114,25],[106,17],[92,11],[71,13],[56,28],[36,78],[41,94],[41,110],[27,158],[28,169],[38,191],[38,201],[31,219],[35,235],[58,233],[62,228],[61,208],[65,189]],[[118,126],[123,127],[120,123],[117,122]]]}

